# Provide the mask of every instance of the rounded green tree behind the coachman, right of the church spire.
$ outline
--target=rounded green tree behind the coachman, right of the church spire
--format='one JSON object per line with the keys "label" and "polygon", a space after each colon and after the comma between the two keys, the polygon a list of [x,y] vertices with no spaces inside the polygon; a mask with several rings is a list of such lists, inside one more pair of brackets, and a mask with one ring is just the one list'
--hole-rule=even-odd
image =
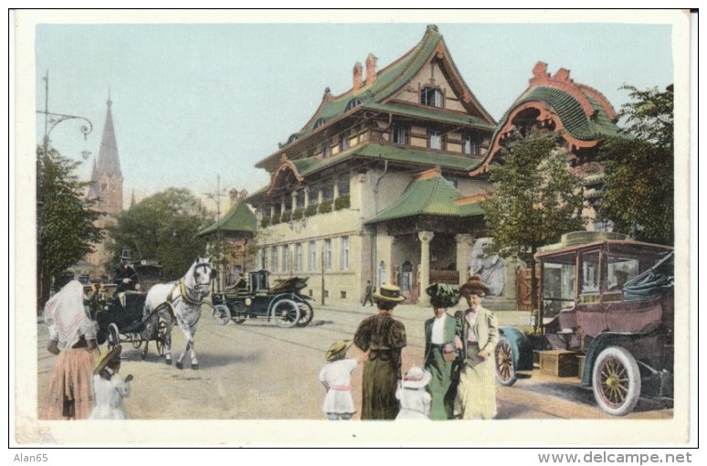
{"label": "rounded green tree behind the coachman, right of the church spire", "polygon": [[138,259],[158,260],[165,280],[176,280],[196,257],[204,256],[206,243],[196,233],[213,221],[188,189],[169,188],[118,216],[111,228],[115,261],[122,249],[132,249]]}

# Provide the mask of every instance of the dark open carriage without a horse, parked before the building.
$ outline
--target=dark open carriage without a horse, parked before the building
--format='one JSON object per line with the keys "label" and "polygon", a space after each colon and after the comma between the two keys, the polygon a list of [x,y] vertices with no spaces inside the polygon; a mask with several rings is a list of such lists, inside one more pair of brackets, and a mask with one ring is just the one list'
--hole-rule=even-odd
{"label": "dark open carriage without a horse, parked before the building", "polygon": [[244,323],[248,319],[266,318],[280,327],[306,327],[314,317],[311,298],[301,294],[308,278],[292,277],[269,287],[268,270],[248,273],[225,292],[215,292],[213,316],[218,323]]}

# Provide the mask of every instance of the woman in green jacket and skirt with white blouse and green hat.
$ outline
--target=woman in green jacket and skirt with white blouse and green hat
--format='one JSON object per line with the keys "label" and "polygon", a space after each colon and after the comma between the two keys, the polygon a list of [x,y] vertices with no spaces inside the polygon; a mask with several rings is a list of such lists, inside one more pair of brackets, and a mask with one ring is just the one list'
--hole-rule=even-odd
{"label": "woman in green jacket and skirt with white blouse and green hat", "polygon": [[461,321],[447,313],[459,302],[459,291],[443,283],[427,287],[429,302],[435,316],[425,321],[425,369],[431,374],[429,393],[432,395],[430,418],[452,418],[457,396],[461,343]]}

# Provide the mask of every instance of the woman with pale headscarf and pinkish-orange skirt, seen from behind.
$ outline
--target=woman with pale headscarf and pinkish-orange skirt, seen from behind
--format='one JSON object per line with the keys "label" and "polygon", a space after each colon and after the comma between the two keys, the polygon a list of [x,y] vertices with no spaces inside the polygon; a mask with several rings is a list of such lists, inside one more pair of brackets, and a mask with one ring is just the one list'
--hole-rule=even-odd
{"label": "woman with pale headscarf and pinkish-orange skirt, seen from behind", "polygon": [[69,281],[44,308],[47,351],[58,355],[42,419],[85,419],[93,408],[91,376],[98,354],[97,323],[84,308],[83,285]]}

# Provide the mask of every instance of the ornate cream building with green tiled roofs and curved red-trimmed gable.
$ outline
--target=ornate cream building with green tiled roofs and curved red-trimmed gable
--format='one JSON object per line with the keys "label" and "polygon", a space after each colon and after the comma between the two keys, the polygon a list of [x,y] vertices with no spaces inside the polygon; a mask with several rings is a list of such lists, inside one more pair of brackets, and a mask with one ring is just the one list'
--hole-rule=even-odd
{"label": "ornate cream building with green tiled roofs and curved red-trimmed gable", "polygon": [[[318,302],[360,302],[371,280],[426,303],[429,283],[465,281],[479,259],[473,246],[487,236],[486,168],[513,125],[554,124],[578,173],[594,166],[597,137],[616,131],[596,90],[542,67],[497,125],[437,26],[384,69],[376,62],[369,54],[365,73],[354,65],[350,90],[324,91],[301,130],[256,164],[270,182],[248,197],[259,218],[257,268],[310,277],[303,291]],[[514,300],[515,270],[500,273],[497,298]]]}

